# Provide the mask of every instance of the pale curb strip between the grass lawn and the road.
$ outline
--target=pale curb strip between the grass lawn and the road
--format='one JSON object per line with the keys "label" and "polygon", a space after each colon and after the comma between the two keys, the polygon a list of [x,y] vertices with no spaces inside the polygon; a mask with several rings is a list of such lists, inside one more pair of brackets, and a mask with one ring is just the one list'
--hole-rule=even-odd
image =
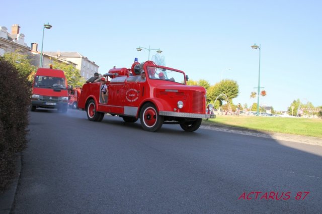
{"label": "pale curb strip between the grass lawn and the road", "polygon": [[246,128],[238,128],[238,127],[230,127],[224,125],[217,125],[217,124],[207,124],[202,123],[201,127],[203,129],[211,129],[221,132],[230,132],[242,135],[252,135],[257,137],[263,138],[271,138],[274,140],[282,140],[282,141],[290,141],[296,143],[304,143],[316,146],[322,146],[322,138],[317,137],[308,137],[302,135],[293,135],[293,134],[285,134],[285,133],[276,133],[276,132],[268,132],[268,131],[258,131]]}

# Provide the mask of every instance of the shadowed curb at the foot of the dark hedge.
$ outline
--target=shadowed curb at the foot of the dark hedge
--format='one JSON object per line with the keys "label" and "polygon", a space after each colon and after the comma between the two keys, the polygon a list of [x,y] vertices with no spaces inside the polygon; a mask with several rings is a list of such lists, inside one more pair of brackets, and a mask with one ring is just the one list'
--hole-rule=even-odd
{"label": "shadowed curb at the foot of the dark hedge", "polygon": [[16,159],[16,176],[9,186],[8,190],[0,195],[0,214],[7,214],[11,212],[14,205],[15,195],[18,187],[18,182],[21,172],[21,153],[18,154]]}

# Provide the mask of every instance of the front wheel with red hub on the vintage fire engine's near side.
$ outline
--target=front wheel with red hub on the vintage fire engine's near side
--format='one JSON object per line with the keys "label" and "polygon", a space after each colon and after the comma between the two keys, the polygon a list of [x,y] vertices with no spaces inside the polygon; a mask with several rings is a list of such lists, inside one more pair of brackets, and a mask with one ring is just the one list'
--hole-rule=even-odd
{"label": "front wheel with red hub on the vintage fire engine's near side", "polygon": [[145,131],[156,132],[159,130],[164,122],[164,117],[159,116],[155,106],[148,102],[142,106],[140,112],[141,126]]}

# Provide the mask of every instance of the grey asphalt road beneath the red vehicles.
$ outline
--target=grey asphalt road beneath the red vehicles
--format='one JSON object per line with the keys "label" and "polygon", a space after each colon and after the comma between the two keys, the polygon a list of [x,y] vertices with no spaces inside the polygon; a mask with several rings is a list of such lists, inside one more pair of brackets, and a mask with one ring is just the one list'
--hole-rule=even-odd
{"label": "grey asphalt road beneath the red vehicles", "polygon": [[29,129],[14,213],[322,212],[320,146],[77,110],[31,112]]}

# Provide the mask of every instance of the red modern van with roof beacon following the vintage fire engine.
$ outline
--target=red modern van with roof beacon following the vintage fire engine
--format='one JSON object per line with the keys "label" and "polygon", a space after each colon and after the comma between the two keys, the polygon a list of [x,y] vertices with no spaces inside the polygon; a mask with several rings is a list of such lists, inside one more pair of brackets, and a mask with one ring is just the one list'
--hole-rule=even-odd
{"label": "red modern van with roof beacon following the vintage fire engine", "polygon": [[31,111],[37,108],[68,109],[67,80],[62,70],[39,68],[32,84]]}

